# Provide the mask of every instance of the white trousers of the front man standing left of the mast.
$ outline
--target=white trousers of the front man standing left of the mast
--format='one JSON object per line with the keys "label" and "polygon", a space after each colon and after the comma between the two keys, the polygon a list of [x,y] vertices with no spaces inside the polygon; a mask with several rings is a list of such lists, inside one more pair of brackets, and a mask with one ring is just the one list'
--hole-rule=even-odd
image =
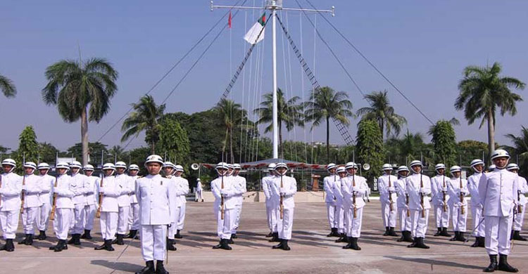
{"label": "white trousers of the front man standing left of the mast", "polygon": [[142,255],[145,261],[165,260],[167,225],[142,225]]}

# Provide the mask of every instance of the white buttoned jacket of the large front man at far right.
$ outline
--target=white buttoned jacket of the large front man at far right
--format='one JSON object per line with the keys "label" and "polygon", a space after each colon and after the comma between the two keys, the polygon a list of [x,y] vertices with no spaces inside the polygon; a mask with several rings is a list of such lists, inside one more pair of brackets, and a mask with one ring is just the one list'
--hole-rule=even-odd
{"label": "white buttoned jacket of the large front man at far right", "polygon": [[479,198],[484,216],[510,216],[517,203],[517,177],[506,169],[495,169],[480,177]]}

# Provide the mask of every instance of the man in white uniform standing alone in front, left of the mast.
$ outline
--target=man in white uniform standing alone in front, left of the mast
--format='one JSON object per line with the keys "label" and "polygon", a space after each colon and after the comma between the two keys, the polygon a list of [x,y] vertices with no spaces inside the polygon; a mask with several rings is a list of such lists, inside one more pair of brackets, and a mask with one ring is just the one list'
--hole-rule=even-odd
{"label": "man in white uniform standing alone in front, left of the mast", "polygon": [[[163,158],[150,155],[145,167],[149,174],[136,180],[136,195],[141,219],[142,255],[146,266],[136,274],[168,274],[163,266],[168,228],[174,225],[174,188],[161,177]],[[154,270],[156,260],[156,270]]]}

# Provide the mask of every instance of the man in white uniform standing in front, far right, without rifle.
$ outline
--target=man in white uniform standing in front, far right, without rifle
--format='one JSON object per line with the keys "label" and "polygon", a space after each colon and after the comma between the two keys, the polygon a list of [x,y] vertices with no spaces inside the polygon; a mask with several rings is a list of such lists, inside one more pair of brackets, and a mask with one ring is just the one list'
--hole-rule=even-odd
{"label": "man in white uniform standing in front, far right, without rifle", "polygon": [[[517,174],[506,170],[510,155],[505,150],[495,150],[491,161],[494,171],[482,174],[479,182],[480,203],[484,207],[486,223],[486,252],[489,254],[489,266],[484,272],[503,270],[516,273],[519,270],[510,266],[510,233],[513,216],[517,207]],[[497,263],[497,255],[499,256]]]}

